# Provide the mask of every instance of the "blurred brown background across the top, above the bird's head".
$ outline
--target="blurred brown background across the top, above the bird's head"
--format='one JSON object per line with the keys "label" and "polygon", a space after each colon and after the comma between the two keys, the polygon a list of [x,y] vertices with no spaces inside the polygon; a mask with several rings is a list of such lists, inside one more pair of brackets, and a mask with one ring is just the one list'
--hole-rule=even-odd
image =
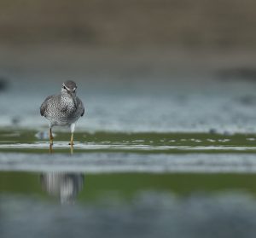
{"label": "blurred brown background across the top, above the bird's head", "polygon": [[174,73],[255,71],[252,0],[0,4],[4,75],[65,71],[67,78],[131,82],[173,79]]}

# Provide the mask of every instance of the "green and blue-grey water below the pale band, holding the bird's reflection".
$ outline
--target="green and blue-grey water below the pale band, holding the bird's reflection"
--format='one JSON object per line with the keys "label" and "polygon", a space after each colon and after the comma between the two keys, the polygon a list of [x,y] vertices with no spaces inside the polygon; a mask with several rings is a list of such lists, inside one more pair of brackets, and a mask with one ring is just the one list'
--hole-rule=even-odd
{"label": "green and blue-grey water below the pale band, holding the bird's reflection", "polygon": [[2,171],[1,237],[254,237],[255,180],[254,174]]}

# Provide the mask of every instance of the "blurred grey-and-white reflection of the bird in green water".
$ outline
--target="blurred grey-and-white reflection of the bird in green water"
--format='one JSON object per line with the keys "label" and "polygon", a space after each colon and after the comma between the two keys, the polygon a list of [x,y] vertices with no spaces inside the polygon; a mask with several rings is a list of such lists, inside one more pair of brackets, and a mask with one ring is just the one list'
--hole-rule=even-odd
{"label": "blurred grey-and-white reflection of the bird in green water", "polygon": [[47,172],[40,175],[42,189],[58,197],[61,204],[73,204],[84,187],[84,175],[79,173]]}

